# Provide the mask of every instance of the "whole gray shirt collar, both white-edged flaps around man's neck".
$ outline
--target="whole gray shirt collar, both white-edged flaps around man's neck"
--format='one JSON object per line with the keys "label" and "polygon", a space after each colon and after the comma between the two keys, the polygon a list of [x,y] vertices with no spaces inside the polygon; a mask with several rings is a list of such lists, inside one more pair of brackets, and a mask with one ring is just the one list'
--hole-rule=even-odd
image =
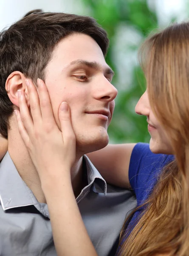
{"label": "whole gray shirt collar, both white-edged flaps around man's neck", "polygon": [[[83,158],[86,163],[88,181],[88,185],[85,188],[92,187],[95,192],[104,192],[104,195],[106,195],[106,181],[89,158],[87,156],[83,156]],[[0,162],[0,202],[4,211],[29,205],[34,205],[37,209],[40,208],[40,212],[42,211],[42,207],[39,206],[39,202],[33,192],[20,177],[8,152]]]}

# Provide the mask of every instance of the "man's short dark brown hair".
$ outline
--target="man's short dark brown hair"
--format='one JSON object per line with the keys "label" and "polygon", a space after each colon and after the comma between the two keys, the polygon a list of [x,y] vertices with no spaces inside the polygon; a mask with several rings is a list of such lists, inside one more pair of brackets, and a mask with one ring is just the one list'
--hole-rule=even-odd
{"label": "man's short dark brown hair", "polygon": [[3,137],[8,137],[8,119],[14,110],[5,89],[7,77],[20,71],[33,81],[45,80],[44,70],[54,48],[62,38],[73,33],[89,35],[106,55],[107,33],[92,17],[34,10],[0,33],[0,134]]}

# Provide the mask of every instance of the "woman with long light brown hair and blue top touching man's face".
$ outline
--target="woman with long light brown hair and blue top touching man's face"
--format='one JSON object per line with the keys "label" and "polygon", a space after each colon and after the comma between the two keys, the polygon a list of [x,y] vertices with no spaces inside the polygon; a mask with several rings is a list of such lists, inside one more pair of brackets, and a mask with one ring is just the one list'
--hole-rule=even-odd
{"label": "woman with long light brown hair and blue top touching man's face", "polygon": [[[133,218],[129,225],[127,225],[128,221],[126,220],[118,255],[187,256],[189,255],[189,23],[174,24],[162,32],[152,35],[142,45],[139,56],[147,80],[147,91],[139,100],[135,110],[138,114],[147,116],[152,152],[174,154],[175,160],[169,157],[166,161],[168,164],[161,172],[159,170],[151,172],[150,166],[147,164],[144,179],[144,166],[142,169],[139,168],[138,172],[133,169],[133,173],[129,173],[129,177],[135,180],[134,183],[130,180],[130,184],[131,186],[135,184],[135,187],[132,186],[132,188],[137,195],[139,207],[135,210],[134,215],[130,216]],[[34,87],[32,88],[34,89]],[[41,87],[42,91],[45,92],[44,84]],[[56,180],[53,179],[51,170],[48,169],[48,172],[45,172],[43,167],[48,157],[38,158],[35,155],[35,150],[39,146],[37,140],[34,134],[25,129],[27,120],[23,123],[20,119],[20,115],[25,115],[25,111],[28,109],[24,102],[24,97],[23,99],[20,98],[20,113],[17,112],[18,127],[42,181],[42,189],[50,210],[57,253],[58,255],[70,256],[72,250],[77,248],[78,255],[87,255],[87,253],[90,256],[96,255],[79,215],[75,198],[72,195],[73,192],[71,192],[71,184],[70,186],[64,185],[65,188],[64,186],[62,188],[64,180],[61,179],[65,173],[62,175],[62,171],[59,171]],[[72,131],[69,135],[68,130],[71,129],[67,129],[71,127],[68,108],[63,115],[66,115],[66,118],[65,116],[61,118],[60,115],[60,121],[63,119],[62,125],[64,125],[62,128],[65,130],[65,133],[62,131],[63,143],[61,142],[61,146],[69,154],[67,154],[64,162],[59,162],[59,166],[64,168],[59,167],[58,170],[65,169],[66,172],[71,168],[73,161],[74,137]],[[50,135],[46,134],[46,136]],[[69,136],[72,138],[72,145],[68,143],[67,137]],[[112,147],[114,147],[113,150]],[[90,157],[96,166],[100,167],[98,169],[105,179],[107,178],[109,182],[114,183],[114,177],[116,181],[123,178],[123,167],[121,168],[119,165],[116,172],[111,169],[111,175],[104,170],[115,162],[116,151],[121,153],[121,151],[125,152],[125,149],[124,146],[112,147],[109,146],[99,152],[92,153]],[[141,155],[145,152],[145,157],[152,157],[152,153],[148,151],[148,145],[139,144],[135,147],[138,148]],[[69,148],[69,150],[65,148]],[[136,149],[131,149],[132,154],[134,150]],[[39,148],[38,152],[40,153]],[[52,156],[53,152],[49,151],[48,154]],[[124,154],[120,155],[123,158],[121,163],[124,163]],[[108,157],[107,164],[101,166],[100,163],[105,156]],[[130,159],[129,154],[128,158]],[[147,173],[148,170],[149,173]],[[141,183],[137,180],[143,181],[142,190],[139,187]],[[49,191],[53,184],[56,184],[56,191],[52,195]],[[137,193],[138,190],[140,193]],[[63,198],[63,202],[64,205],[66,202],[69,207],[65,211],[64,205],[59,204],[59,211],[56,208],[56,212],[54,212],[54,205],[57,205],[54,199],[60,201],[62,199],[60,194],[64,192],[68,193],[69,199],[68,197]],[[57,215],[57,212],[61,215]],[[64,225],[66,225],[62,216],[63,219],[65,217],[66,221],[72,220],[72,218],[74,220],[74,225],[66,226],[66,233],[62,231],[65,230]],[[62,225],[62,229],[59,228],[60,225]],[[71,235],[70,230],[72,228]],[[87,244],[86,248],[82,247],[83,241],[85,241],[85,246]],[[72,250],[69,250],[65,245],[67,247],[72,246]]]}

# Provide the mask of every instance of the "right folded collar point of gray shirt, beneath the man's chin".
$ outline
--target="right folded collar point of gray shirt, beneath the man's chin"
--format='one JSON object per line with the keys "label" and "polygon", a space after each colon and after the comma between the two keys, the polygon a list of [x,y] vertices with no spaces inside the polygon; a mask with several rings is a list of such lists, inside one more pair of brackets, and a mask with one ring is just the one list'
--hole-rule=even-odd
{"label": "right folded collar point of gray shirt, beneath the man's chin", "polygon": [[[86,168],[87,168],[87,180],[88,180],[88,186],[93,185],[93,190],[95,192],[104,192],[104,195],[107,194],[107,183],[104,180],[104,178],[100,175],[98,170],[95,168],[95,166],[91,163],[89,158],[84,155],[83,156]],[[88,187],[86,186],[86,187]],[[102,190],[102,191],[101,191]]]}

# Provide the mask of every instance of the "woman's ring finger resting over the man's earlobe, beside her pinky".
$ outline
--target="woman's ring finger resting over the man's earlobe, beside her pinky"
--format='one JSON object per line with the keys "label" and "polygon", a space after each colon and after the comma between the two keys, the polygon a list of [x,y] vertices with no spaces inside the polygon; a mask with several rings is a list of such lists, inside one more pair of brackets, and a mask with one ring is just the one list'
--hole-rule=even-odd
{"label": "woman's ring finger resting over the man's earlobe, beside her pinky", "polygon": [[33,121],[31,119],[25,95],[22,90],[18,90],[18,102],[20,107],[20,120],[23,122],[26,131],[31,133],[33,129]]}

